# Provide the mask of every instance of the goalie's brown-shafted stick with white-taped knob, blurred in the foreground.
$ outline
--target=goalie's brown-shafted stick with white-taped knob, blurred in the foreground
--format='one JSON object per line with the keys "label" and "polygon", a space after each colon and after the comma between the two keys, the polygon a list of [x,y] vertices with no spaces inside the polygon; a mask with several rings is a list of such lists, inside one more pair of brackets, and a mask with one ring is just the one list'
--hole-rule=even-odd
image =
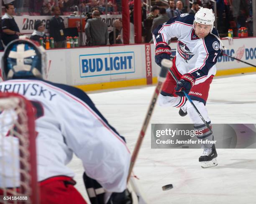
{"label": "goalie's brown-shafted stick with white-taped knob, blurred in the foreground", "polygon": [[169,70],[169,67],[172,67],[172,61],[166,60],[166,59],[161,61],[161,71],[160,71],[160,74],[159,74],[159,77],[158,77],[158,82],[157,82],[157,85],[156,85],[156,89],[154,91],[154,95],[153,95],[153,97],[151,99],[151,102],[150,102],[150,105],[148,107],[146,117],[144,119],[143,125],[141,127],[140,134],[139,134],[137,142],[136,142],[136,146],[133,150],[133,154],[132,154],[132,157],[131,157],[131,163],[130,163],[130,168],[129,168],[129,172],[128,172],[127,183],[128,183],[128,181],[131,177],[131,172],[133,170],[134,164],[135,164],[136,159],[138,157],[138,152],[141,148],[141,144],[142,144],[143,138],[145,136],[145,133],[146,133],[146,130],[147,130],[147,127],[148,127],[148,123],[151,119],[151,116],[152,116],[152,113],[153,113],[153,110],[154,110],[154,107],[155,107],[155,104],[156,104],[157,97],[158,97],[159,93],[161,92],[162,84],[165,81],[166,74]]}

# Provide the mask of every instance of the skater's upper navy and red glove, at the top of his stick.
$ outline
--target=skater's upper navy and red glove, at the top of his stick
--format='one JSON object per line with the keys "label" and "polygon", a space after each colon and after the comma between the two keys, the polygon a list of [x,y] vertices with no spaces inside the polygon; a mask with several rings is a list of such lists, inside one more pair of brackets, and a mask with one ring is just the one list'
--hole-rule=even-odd
{"label": "skater's upper navy and red glove, at the top of his stick", "polygon": [[156,64],[161,67],[161,61],[163,59],[170,60],[171,59],[171,47],[167,45],[166,42],[159,42],[156,44],[156,52],[155,52],[155,61]]}

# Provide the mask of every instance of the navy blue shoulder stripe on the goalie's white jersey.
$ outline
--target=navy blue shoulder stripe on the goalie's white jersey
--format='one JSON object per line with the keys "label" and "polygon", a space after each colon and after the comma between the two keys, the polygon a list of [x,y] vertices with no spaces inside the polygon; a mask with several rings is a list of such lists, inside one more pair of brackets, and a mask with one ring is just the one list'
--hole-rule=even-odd
{"label": "navy blue shoulder stripe on the goalie's white jersey", "polygon": [[[32,79],[32,78],[30,78]],[[83,92],[82,90],[76,88],[76,87],[72,87],[72,86],[69,86],[69,85],[64,85],[64,84],[56,84],[56,83],[53,83],[53,82],[49,82],[49,81],[46,81],[46,80],[42,80],[42,79],[39,79],[39,78],[33,78],[33,80],[40,80],[40,81],[43,81],[43,82],[46,82],[50,85],[53,85],[55,87],[58,87],[66,92],[69,92],[69,94],[71,95],[74,95],[75,97],[79,98],[80,100],[82,100],[84,103],[86,103],[88,106],[90,106],[90,108],[121,138],[123,139],[124,142],[125,141],[125,138],[123,136],[121,136],[114,127],[112,127],[109,123],[108,123],[108,120],[105,119],[105,117],[103,117],[103,115],[100,113],[100,111],[95,107],[95,104],[92,102],[92,100],[90,99],[90,97],[85,93]]]}

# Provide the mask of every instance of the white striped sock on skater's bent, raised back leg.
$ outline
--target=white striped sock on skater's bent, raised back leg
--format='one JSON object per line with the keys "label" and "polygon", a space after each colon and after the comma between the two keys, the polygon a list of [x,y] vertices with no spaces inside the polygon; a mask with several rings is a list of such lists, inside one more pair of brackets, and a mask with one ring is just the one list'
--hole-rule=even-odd
{"label": "white striped sock on skater's bent, raised back leg", "polygon": [[181,107],[186,103],[185,97],[163,96],[159,94],[157,104],[160,106]]}

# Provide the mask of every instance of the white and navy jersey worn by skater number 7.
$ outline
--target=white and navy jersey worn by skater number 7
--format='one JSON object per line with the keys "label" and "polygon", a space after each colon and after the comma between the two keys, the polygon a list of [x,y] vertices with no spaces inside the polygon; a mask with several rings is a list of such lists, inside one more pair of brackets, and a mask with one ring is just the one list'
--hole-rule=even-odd
{"label": "white and navy jersey worn by skater number 7", "polygon": [[175,65],[181,75],[191,73],[195,84],[204,82],[211,75],[216,74],[216,62],[220,55],[220,42],[215,28],[212,34],[205,38],[198,38],[193,29],[195,15],[183,13],[170,18],[163,25],[159,25],[153,32],[154,44],[166,42],[177,37],[177,50]]}

